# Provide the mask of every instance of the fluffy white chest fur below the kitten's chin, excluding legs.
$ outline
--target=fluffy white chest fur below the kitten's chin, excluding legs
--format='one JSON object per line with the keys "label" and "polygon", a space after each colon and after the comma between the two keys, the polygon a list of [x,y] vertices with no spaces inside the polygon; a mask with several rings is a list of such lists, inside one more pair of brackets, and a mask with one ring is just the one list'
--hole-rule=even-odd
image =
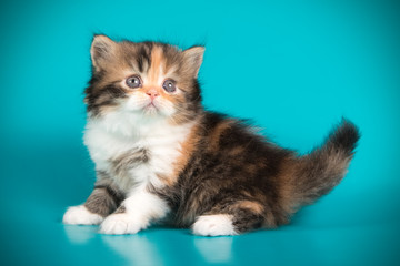
{"label": "fluffy white chest fur below the kitten's chin, excluding legs", "polygon": [[[122,191],[130,192],[133,185],[162,187],[163,183],[158,176],[173,172],[173,162],[180,155],[181,143],[188,137],[192,125],[171,125],[161,117],[111,113],[88,120],[84,144],[96,163],[96,170],[107,172]],[[122,174],[113,171],[116,160],[129,156],[132,151],[146,151],[148,160],[134,167],[127,165]],[[124,161],[121,162],[123,164]]]}

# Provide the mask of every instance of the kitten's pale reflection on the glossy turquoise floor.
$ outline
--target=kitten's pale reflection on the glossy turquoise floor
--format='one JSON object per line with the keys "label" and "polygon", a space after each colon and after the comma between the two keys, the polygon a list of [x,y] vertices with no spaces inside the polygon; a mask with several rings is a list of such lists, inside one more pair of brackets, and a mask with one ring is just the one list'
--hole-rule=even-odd
{"label": "kitten's pale reflection on the glossy turquoise floor", "polygon": [[64,231],[67,237],[74,244],[84,245],[101,239],[120,255],[127,265],[166,265],[166,259],[172,265],[233,262],[234,237],[229,236],[201,237],[193,236],[188,231],[162,228],[137,235],[100,235],[98,226],[69,225],[64,226]]}

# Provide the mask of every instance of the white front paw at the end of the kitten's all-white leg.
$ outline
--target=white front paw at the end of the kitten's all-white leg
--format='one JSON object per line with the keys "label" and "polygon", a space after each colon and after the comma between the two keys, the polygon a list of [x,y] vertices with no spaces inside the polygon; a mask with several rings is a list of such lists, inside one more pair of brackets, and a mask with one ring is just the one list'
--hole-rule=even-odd
{"label": "white front paw at the end of the kitten's all-white leg", "polygon": [[100,225],[100,233],[109,235],[136,234],[142,228],[132,216],[121,213],[108,216]]}

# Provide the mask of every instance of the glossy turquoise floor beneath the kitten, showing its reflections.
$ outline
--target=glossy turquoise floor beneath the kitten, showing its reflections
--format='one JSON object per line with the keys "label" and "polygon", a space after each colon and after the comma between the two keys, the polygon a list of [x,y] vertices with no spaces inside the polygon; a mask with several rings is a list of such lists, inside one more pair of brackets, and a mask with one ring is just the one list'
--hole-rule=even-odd
{"label": "glossy turquoise floor beneath the kitten, showing its reflections", "polygon": [[[30,223],[2,222],[2,265],[398,265],[396,226],[291,225],[234,237],[199,237],[153,227],[109,236],[97,226],[67,226],[41,209]],[[54,215],[54,214],[58,215]],[[18,223],[14,221],[13,223]],[[386,256],[382,256],[386,254]]]}

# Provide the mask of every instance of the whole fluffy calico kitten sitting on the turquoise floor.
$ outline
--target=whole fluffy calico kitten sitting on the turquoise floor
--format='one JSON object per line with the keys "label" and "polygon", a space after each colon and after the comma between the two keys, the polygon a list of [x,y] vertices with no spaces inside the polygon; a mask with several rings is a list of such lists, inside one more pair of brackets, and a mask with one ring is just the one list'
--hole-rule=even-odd
{"label": "whole fluffy calico kitten sitting on the turquoise floor", "polygon": [[359,139],[343,120],[326,143],[299,156],[240,120],[204,111],[197,80],[203,47],[96,35],[86,89],[84,144],[94,190],[66,224],[134,234],[154,222],[204,236],[288,223],[344,176]]}

